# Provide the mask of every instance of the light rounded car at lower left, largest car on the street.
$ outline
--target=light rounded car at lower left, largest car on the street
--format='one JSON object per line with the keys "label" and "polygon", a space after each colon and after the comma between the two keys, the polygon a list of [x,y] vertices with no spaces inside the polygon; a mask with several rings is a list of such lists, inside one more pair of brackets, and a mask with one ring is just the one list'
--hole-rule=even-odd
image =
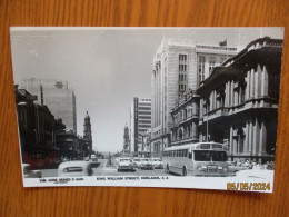
{"label": "light rounded car at lower left, largest car on the street", "polygon": [[92,174],[91,162],[84,160],[61,162],[58,167],[59,177],[92,176]]}

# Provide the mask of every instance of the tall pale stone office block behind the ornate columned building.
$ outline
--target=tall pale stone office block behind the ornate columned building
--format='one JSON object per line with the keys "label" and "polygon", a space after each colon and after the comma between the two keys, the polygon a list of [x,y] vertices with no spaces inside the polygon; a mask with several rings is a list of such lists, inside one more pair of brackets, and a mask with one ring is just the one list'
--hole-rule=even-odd
{"label": "tall pale stone office block behind the ornate columned building", "polygon": [[215,66],[237,53],[227,46],[196,45],[192,40],[161,41],[155,58],[151,77],[152,127],[151,142],[155,156],[161,156],[171,142],[171,109],[189,90],[210,75]]}

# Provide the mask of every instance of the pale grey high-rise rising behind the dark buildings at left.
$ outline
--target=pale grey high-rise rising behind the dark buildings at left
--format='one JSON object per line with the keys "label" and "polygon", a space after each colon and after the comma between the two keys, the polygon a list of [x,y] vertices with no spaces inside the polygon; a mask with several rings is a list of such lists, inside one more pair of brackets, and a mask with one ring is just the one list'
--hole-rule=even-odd
{"label": "pale grey high-rise rising behind the dark buildings at left", "polygon": [[56,118],[61,118],[68,129],[77,134],[76,95],[67,81],[56,79],[22,79],[21,88],[38,97],[39,105],[46,105]]}

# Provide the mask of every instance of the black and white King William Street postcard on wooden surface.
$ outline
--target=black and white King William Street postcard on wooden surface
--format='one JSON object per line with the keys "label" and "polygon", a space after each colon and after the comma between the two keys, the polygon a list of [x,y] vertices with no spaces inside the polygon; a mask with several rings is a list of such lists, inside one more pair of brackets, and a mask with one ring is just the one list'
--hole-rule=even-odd
{"label": "black and white King William Street postcard on wooden surface", "polygon": [[283,28],[10,37],[24,187],[273,191]]}

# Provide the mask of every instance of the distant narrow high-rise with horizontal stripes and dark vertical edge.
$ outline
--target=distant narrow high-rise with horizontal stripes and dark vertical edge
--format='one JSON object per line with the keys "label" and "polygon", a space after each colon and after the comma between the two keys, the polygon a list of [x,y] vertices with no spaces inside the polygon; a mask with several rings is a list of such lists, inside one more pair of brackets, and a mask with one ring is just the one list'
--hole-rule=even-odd
{"label": "distant narrow high-rise with horizontal stripes and dark vertical edge", "polygon": [[131,152],[141,150],[141,135],[151,128],[151,99],[133,98],[130,109]]}

